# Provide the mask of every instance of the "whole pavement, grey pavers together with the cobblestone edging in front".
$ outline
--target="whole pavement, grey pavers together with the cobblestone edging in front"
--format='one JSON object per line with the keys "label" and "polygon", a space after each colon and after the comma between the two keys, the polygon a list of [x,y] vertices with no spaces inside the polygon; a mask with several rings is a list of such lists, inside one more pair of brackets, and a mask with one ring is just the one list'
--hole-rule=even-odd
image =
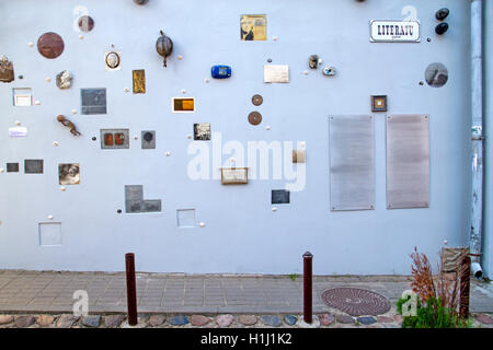
{"label": "whole pavement, grey pavers together with the cobblestone edging in front", "polygon": [[[387,296],[392,307],[380,317],[348,318],[320,298],[323,290],[335,287],[375,291]],[[401,276],[313,277],[313,314],[321,327],[399,327],[394,305],[408,289],[408,278]],[[78,290],[89,295],[91,315],[85,320],[60,316],[72,313],[77,301],[72,296]],[[205,327],[298,327],[302,279],[137,273],[137,298],[142,327],[194,327],[202,323]],[[491,283],[471,283],[470,310],[477,314],[477,326],[491,327]],[[65,318],[71,322],[70,327],[106,327],[112,322],[125,326],[124,315],[117,313],[126,313],[125,273],[0,270],[0,327],[57,327],[66,324]]]}

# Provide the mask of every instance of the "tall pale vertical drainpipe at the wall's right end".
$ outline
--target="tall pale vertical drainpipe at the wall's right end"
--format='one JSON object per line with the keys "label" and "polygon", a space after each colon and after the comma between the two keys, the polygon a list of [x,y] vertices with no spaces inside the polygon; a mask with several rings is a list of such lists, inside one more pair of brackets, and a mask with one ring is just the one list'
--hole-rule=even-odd
{"label": "tall pale vertical drainpipe at the wall's right end", "polygon": [[469,248],[471,272],[482,277],[480,265],[483,224],[483,72],[482,0],[471,0],[471,113],[472,113],[472,203]]}

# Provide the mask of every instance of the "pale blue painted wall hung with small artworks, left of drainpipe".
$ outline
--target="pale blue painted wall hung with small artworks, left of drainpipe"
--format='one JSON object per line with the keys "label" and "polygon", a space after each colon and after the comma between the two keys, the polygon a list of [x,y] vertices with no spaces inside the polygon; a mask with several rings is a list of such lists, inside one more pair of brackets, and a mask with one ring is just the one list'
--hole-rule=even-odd
{"label": "pale blue painted wall hung with small artworks, left of drainpipe", "polygon": [[[409,4],[417,10],[422,42],[371,44],[369,21],[402,20]],[[87,7],[95,21],[83,39],[73,30],[78,5]],[[442,7],[451,14],[449,31],[439,37],[435,11]],[[124,269],[125,253],[135,252],[141,271],[299,273],[301,255],[310,250],[314,273],[409,273],[414,246],[435,258],[444,240],[449,246],[468,245],[468,1],[150,0],[138,7],[130,0],[46,0],[43,5],[18,0],[0,1],[0,54],[13,61],[16,75],[24,75],[0,84],[1,166],[21,163],[20,173],[0,174],[0,268],[114,271]],[[267,15],[267,40],[241,42],[240,15],[257,13]],[[154,49],[160,30],[174,42],[167,69]],[[57,59],[27,45],[45,32],[65,40]],[[104,68],[111,44],[122,51],[119,71]],[[339,74],[328,78],[319,70],[305,75],[311,54]],[[289,65],[288,84],[263,83],[268,58]],[[419,84],[432,62],[448,68],[444,88]],[[232,78],[205,83],[215,63],[232,66]],[[60,91],[54,81],[65,69],[74,81]],[[144,95],[131,93],[134,69],[146,70]],[[41,104],[12,106],[12,88],[32,88]],[[107,89],[106,115],[80,114],[82,88]],[[184,96],[196,97],[195,114],[171,113],[171,97],[183,89]],[[252,105],[254,94],[263,95],[262,106]],[[386,209],[385,114],[377,114],[376,209],[330,211],[328,116],[371,114],[372,94],[389,96],[389,114],[429,115],[427,209]],[[255,109],[263,115],[256,127],[246,119]],[[82,137],[59,125],[59,114],[72,119]],[[8,137],[15,120],[27,127],[26,138]],[[222,143],[306,141],[305,189],[291,192],[291,203],[273,212],[271,190],[284,188],[285,179],[236,187],[219,179],[191,180],[186,136],[193,135],[194,122],[210,122]],[[102,128],[129,128],[130,137],[157,130],[157,149],[141,150],[140,139],[131,139],[128,150],[101,150]],[[213,142],[218,137],[207,144]],[[24,159],[43,159],[44,174],[24,174]],[[80,164],[81,183],[60,191],[58,164],[70,162]],[[146,198],[162,199],[162,212],[118,214],[125,209],[125,185],[144,185]],[[196,209],[197,226],[179,229],[176,209],[190,208]],[[38,223],[51,222],[48,215],[61,222],[61,246],[39,246]]]}

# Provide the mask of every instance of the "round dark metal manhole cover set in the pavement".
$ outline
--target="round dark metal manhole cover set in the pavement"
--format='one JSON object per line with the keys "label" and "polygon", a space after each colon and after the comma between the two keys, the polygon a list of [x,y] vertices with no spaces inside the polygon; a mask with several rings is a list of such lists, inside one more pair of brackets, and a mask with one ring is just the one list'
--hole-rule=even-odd
{"label": "round dark metal manhole cover set in the pavement", "polygon": [[383,295],[357,289],[333,288],[322,292],[323,302],[351,316],[381,315],[390,310],[390,303]]}

